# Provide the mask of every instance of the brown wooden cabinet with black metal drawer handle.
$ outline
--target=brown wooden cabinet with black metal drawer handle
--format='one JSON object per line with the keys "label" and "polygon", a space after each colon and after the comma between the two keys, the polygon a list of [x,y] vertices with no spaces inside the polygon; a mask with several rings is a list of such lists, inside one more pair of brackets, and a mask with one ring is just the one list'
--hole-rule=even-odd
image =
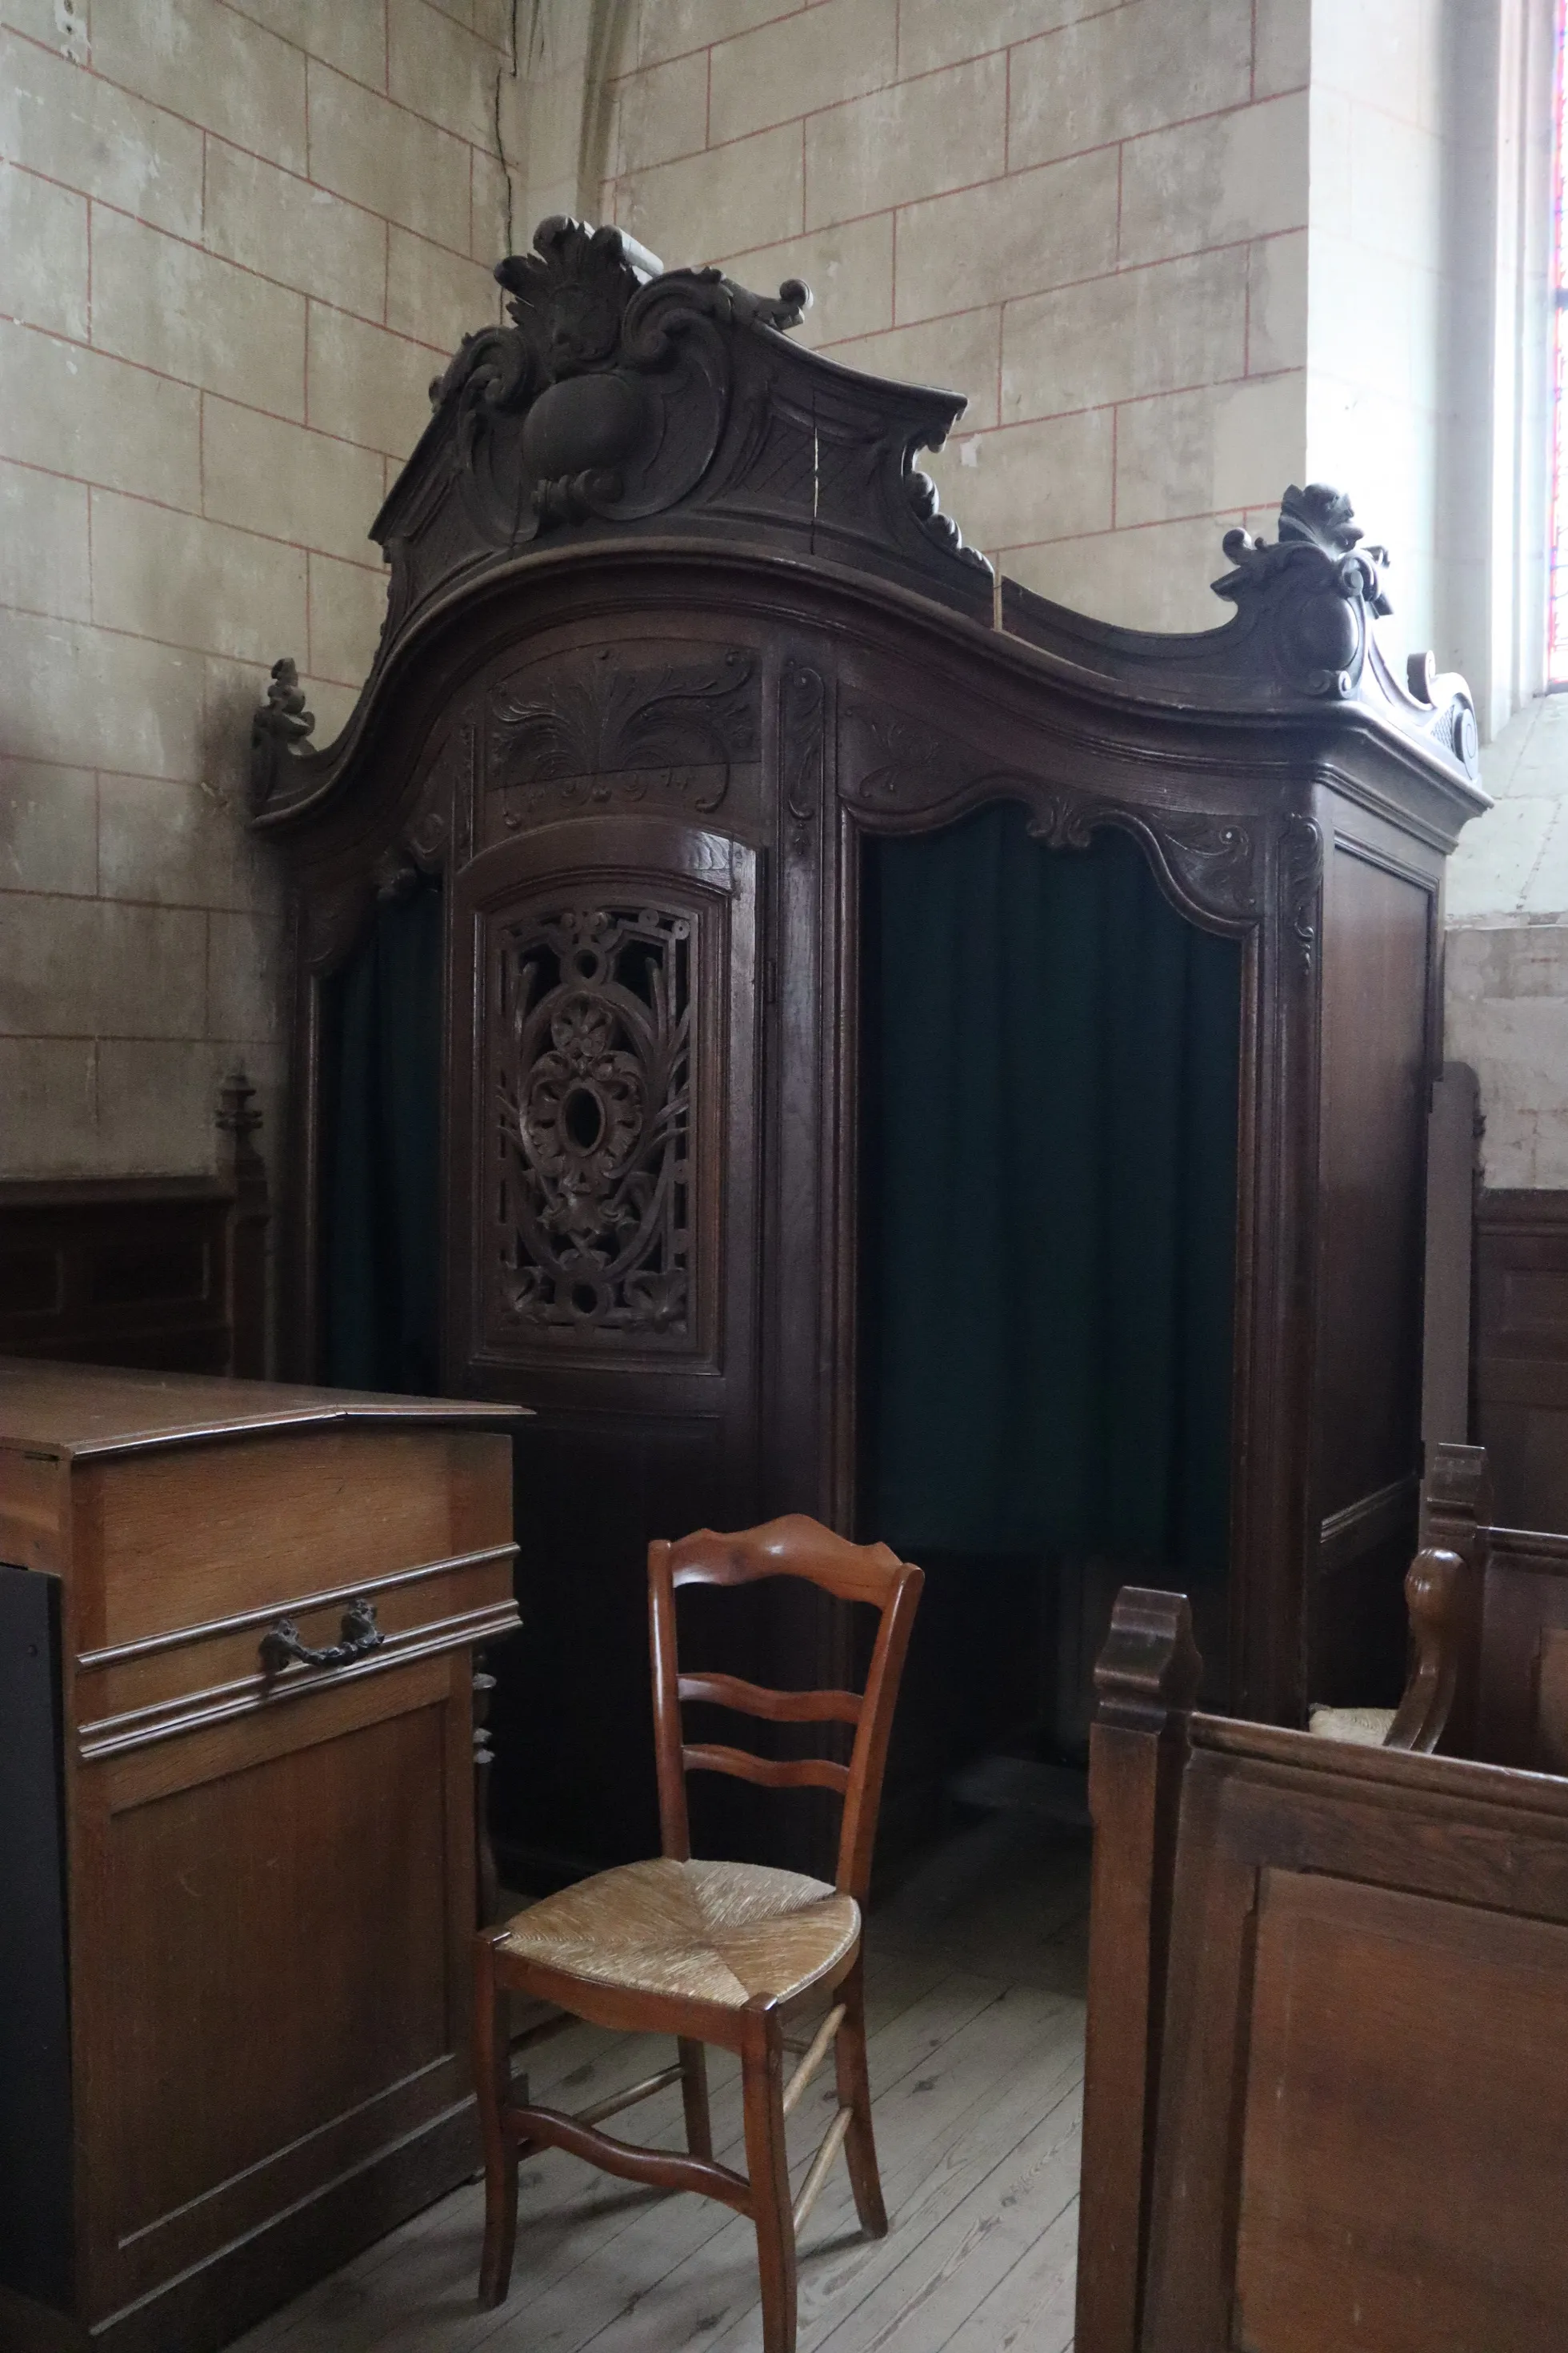
{"label": "brown wooden cabinet with black metal drawer handle", "polygon": [[202,2353],[470,2169],[510,1419],[0,1360],[7,2346]]}

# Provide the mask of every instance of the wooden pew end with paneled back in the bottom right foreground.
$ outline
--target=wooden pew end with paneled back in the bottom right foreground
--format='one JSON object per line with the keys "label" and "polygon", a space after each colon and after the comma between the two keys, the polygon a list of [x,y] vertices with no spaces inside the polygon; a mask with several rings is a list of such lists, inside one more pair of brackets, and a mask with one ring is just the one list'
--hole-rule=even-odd
{"label": "wooden pew end with paneled back in the bottom right foreground", "polygon": [[1126,1588],[1077,2353],[1561,2353],[1568,1781],[1199,1715],[1197,1682],[1187,1602]]}

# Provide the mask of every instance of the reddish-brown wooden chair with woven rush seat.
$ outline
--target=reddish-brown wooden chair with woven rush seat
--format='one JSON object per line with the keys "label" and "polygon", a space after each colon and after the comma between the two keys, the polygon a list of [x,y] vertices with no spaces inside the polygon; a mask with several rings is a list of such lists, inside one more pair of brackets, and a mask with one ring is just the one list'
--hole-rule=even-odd
{"label": "reddish-brown wooden chair with woven rush seat", "polygon": [[[865,1692],[773,1692],[733,1675],[682,1675],[675,1657],[675,1588],[743,1586],[802,1577],[839,1600],[882,1612]],[[860,1906],[870,1880],[882,1769],[893,1701],[924,1579],[884,1544],[846,1544],[816,1520],[790,1515],[738,1537],[701,1529],[649,1546],[654,1729],[663,1857],[602,1871],[534,1904],[475,1944],[475,2085],[484,2127],[484,2264],[480,2301],[501,2304],[517,2231],[517,2162],[531,2148],[569,2148],[592,2165],[658,2188],[703,2191],[757,2224],[766,2353],[795,2348],[795,2240],[839,2148],[849,2158],[856,2212],[872,2238],[886,2233],[865,2073]],[[849,1765],[827,1758],[771,1760],[743,1748],[691,1746],[682,1701],[708,1701],[769,1722],[856,1727]],[[726,1772],[766,1788],[830,1788],[844,1800],[837,1882],[757,1864],[691,1859],[686,1774]],[[515,2104],[508,1993],[555,2002],[564,2019],[670,2033],[677,2061],[581,2115]],[[785,2026],[835,1995],[818,2031]],[[538,2031],[536,2031],[538,2033]],[[520,2038],[531,2040],[531,2038]],[[715,2162],[703,2045],[738,2052],[748,2172]],[[790,2207],[785,2118],[835,2049],[839,2108]],[[802,2052],[785,2085],[783,2054]],[[618,2141],[595,2127],[665,2085],[682,2085],[689,2155]]]}

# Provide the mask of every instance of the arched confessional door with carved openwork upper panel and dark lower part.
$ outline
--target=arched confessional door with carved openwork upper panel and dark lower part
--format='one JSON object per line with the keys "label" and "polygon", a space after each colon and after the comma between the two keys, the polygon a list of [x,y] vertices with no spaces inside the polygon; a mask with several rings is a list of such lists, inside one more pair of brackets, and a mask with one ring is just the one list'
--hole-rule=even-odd
{"label": "arched confessional door with carved openwork upper panel and dark lower part", "polygon": [[444,1386],[538,1414],[491,1661],[534,1878],[656,1852],[646,1539],[759,1515],[759,866],[604,814],[451,889]]}

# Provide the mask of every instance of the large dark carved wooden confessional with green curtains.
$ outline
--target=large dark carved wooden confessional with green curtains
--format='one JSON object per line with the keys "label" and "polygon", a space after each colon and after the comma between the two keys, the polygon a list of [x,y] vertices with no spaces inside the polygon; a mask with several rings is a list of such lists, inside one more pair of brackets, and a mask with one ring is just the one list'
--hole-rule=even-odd
{"label": "large dark carved wooden confessional with green curtains", "polygon": [[[1225,534],[1222,626],[1112,628],[964,548],[914,466],[964,402],[792,344],[799,285],[661,273],[569,221],[498,278],[515,325],[465,339],[374,527],[393,584],[364,694],[317,751],[277,664],[254,784],[296,906],[289,1369],[538,1414],[524,1633],[494,1661],[503,1859],[654,1852],[649,1537],[806,1511],[924,1558],[922,1527],[872,1525],[898,1438],[872,1388],[910,1374],[905,1471],[973,1473],[1006,1424],[971,1485],[1027,1501],[1041,1461],[1072,1478],[1098,1447],[1065,1534],[1046,1497],[985,1544],[1110,1591],[1192,1581],[1159,1541],[1178,1506],[1131,1506],[1154,1492],[1138,1431],[1164,1414],[1175,1494],[1201,1424],[1211,1704],[1300,1722],[1316,1694],[1396,1697],[1439,889],[1486,798],[1465,685],[1380,652],[1380,551],[1293,487],[1274,544]],[[1056,1059],[1030,1061],[1034,1009]],[[898,1071],[929,1085],[922,1024],[952,1087],[1011,1040],[957,1158],[898,1094]],[[1112,1174],[1084,1162],[1074,1191],[1091,1118]],[[1131,1181],[1199,1148],[1222,1162],[1201,1238],[1180,1188]],[[922,1224],[907,1179],[945,1151]],[[999,1369],[964,1325],[980,1249],[990,1329],[1018,1299],[1025,1358],[1056,1348],[1023,1391],[1013,1337]],[[1053,1268],[1079,1268],[1077,1322]],[[1201,1379],[1180,1346],[1143,1360],[1157,1289],[1208,1332]],[[929,1593],[938,1682],[966,1617],[1001,1609],[994,1577],[966,1609],[961,1537],[945,1617]],[[849,1680],[837,1621],[755,1638],[764,1680]],[[1018,1642],[999,1621],[994,1652]],[[912,1722],[924,1687],[912,1659]],[[924,1805],[917,1784],[905,1760]]]}

